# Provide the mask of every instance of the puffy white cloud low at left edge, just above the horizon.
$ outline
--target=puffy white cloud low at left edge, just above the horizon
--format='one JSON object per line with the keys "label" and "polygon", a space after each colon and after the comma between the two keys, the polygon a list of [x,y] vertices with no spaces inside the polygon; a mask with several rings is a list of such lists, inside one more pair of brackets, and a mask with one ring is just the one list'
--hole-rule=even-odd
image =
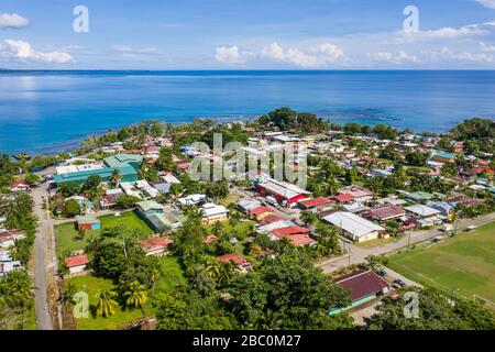
{"label": "puffy white cloud low at left edge, just above the horizon", "polygon": [[23,41],[4,40],[0,44],[0,57],[13,58],[21,62],[38,62],[45,64],[65,64],[74,62],[73,56],[64,52],[42,53],[33,50],[30,43]]}

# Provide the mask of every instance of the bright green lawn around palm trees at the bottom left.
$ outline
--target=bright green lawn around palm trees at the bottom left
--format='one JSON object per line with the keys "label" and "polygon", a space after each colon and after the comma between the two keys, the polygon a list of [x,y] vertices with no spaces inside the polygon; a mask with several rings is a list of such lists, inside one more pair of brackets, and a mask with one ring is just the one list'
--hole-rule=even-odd
{"label": "bright green lawn around palm trees at the bottom left", "polygon": [[[112,289],[114,287],[110,279],[95,277],[92,275],[77,276],[69,278],[76,285],[77,289],[88,294],[89,298],[89,317],[76,319],[79,330],[113,330],[125,328],[133,321],[143,317],[140,309],[122,309],[118,307],[116,315],[108,318],[96,316],[96,295],[102,288]],[[150,311],[150,307],[145,307],[145,311]]]}

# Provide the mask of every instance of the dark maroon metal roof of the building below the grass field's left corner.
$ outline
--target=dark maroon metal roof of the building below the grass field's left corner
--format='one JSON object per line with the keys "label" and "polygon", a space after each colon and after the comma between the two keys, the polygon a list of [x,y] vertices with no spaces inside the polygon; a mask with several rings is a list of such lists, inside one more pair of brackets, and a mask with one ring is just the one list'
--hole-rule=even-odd
{"label": "dark maroon metal roof of the building below the grass field's left corner", "polygon": [[341,276],[336,279],[336,283],[343,289],[351,292],[350,299],[352,301],[377,294],[388,287],[388,284],[372,270],[361,270]]}

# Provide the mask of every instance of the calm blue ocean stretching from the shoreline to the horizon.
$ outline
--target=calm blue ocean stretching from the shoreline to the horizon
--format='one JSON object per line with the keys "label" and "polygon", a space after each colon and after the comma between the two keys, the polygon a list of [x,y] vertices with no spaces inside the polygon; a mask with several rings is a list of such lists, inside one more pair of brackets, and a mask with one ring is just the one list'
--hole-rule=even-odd
{"label": "calm blue ocean stretching from the shoreline to the horizon", "polygon": [[73,150],[141,120],[241,120],[282,106],[336,123],[444,132],[495,118],[495,70],[0,70],[0,153]]}

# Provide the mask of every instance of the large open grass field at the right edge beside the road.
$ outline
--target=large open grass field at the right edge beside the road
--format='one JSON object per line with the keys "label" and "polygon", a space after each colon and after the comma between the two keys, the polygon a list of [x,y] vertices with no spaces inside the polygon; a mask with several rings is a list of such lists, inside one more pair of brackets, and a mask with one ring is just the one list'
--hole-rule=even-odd
{"label": "large open grass field at the right edge beside the road", "polygon": [[495,222],[429,248],[389,257],[387,264],[419,284],[495,302]]}

